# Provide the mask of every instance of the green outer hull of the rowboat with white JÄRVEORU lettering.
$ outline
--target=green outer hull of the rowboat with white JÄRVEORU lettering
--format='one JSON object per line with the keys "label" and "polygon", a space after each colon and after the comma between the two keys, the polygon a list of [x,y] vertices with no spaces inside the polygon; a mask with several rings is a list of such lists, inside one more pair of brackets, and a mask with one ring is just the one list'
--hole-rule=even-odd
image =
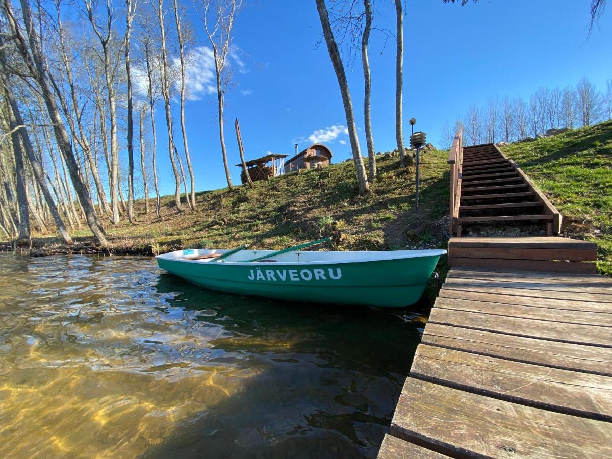
{"label": "green outer hull of the rowboat with white J\u00c4RVEORU lettering", "polygon": [[327,304],[405,307],[419,300],[440,255],[351,263],[194,263],[157,257],[159,267],[224,292]]}

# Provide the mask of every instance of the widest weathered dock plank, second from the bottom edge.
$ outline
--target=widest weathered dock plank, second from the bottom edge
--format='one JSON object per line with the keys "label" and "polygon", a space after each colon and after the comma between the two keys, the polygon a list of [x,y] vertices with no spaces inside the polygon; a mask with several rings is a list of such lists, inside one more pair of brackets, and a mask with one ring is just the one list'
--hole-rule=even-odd
{"label": "widest weathered dock plank, second from the bottom edge", "polygon": [[612,457],[612,424],[406,379],[394,436],[453,457]]}

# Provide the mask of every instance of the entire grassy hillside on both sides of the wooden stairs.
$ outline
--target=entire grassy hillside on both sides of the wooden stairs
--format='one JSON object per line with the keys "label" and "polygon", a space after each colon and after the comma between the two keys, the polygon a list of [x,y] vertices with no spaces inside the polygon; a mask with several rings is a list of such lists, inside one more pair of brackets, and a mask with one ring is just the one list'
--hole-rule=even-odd
{"label": "entire grassy hillside on both sides of the wooden stairs", "polygon": [[[597,242],[598,268],[612,275],[612,122],[575,129],[552,138],[513,144],[503,151],[537,183],[564,215],[565,234]],[[334,250],[389,250],[446,247],[449,237],[447,153],[422,155],[421,198],[414,211],[414,166],[399,167],[398,155],[377,157],[379,180],[367,196],[357,194],[353,162],[322,171],[300,171],[245,186],[198,193],[195,212],[177,212],[173,196],[162,198],[162,217],[144,214],[138,222],[106,224],[114,253],[161,253],[179,248],[279,249],[329,234],[337,222],[344,240]],[[151,201],[154,209],[154,201]],[[62,247],[58,237],[39,236],[34,246]],[[91,233],[73,234],[92,247]],[[0,244],[9,248],[9,244]],[[330,250],[330,245],[316,250]],[[446,261],[439,267],[442,275]]]}

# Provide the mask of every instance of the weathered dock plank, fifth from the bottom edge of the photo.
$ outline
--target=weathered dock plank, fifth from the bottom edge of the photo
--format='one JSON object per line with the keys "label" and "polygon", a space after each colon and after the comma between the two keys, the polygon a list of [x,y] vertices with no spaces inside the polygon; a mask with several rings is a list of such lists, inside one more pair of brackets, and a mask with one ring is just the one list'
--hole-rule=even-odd
{"label": "weathered dock plank, fifth from the bottom edge of the photo", "polygon": [[612,334],[608,327],[528,320],[442,308],[433,308],[429,321],[473,330],[612,348]]}

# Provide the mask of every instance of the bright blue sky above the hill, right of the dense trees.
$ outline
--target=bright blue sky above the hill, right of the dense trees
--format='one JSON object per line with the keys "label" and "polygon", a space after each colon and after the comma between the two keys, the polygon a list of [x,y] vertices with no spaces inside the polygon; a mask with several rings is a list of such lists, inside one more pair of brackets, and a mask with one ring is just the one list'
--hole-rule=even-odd
{"label": "bright blue sky above the hill, right of the dense trees", "polygon": [[[226,145],[234,184],[240,184],[233,121],[241,123],[246,159],[266,152],[292,154],[318,130],[346,125],[338,83],[321,39],[314,0],[250,2],[235,26],[240,48],[235,86],[226,96]],[[375,2],[375,26],[395,28],[390,0]],[[606,12],[589,40],[584,0],[491,0],[460,7],[442,0],[408,1],[405,17],[405,133],[409,118],[438,143],[442,125],[469,105],[490,97],[529,97],[540,86],[575,84],[587,76],[600,89],[612,78],[612,12]],[[193,15],[196,31],[201,22]],[[204,37],[201,44],[206,45]],[[413,58],[416,56],[416,58]],[[418,65],[412,65],[417,62]],[[376,151],[395,148],[395,42],[374,31],[370,42],[372,125]],[[357,127],[363,127],[363,77],[360,60],[346,69]],[[205,72],[204,72],[205,73]],[[201,73],[206,86],[207,76]],[[216,95],[202,91],[185,108],[187,135],[197,190],[226,186]],[[177,119],[176,115],[176,119]],[[162,194],[173,193],[165,147],[163,110],[157,109],[158,168]],[[180,128],[177,127],[177,144]],[[335,129],[338,131],[338,129]],[[363,130],[362,153],[366,154]],[[327,135],[329,138],[332,135]],[[406,141],[408,135],[405,135]],[[334,162],[349,157],[348,136],[326,142]]]}

